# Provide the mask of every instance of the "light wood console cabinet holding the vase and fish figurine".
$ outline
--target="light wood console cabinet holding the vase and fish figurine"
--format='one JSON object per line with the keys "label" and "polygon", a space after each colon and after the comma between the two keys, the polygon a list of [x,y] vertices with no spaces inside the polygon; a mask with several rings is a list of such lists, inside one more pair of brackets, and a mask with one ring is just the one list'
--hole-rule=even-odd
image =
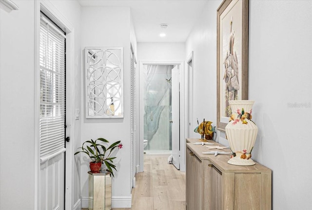
{"label": "light wood console cabinet holding the vase and fish figurine", "polygon": [[227,163],[230,155],[202,154],[211,150],[206,145],[193,145],[198,139],[186,142],[187,210],[272,209],[271,169],[258,163],[230,165]]}

